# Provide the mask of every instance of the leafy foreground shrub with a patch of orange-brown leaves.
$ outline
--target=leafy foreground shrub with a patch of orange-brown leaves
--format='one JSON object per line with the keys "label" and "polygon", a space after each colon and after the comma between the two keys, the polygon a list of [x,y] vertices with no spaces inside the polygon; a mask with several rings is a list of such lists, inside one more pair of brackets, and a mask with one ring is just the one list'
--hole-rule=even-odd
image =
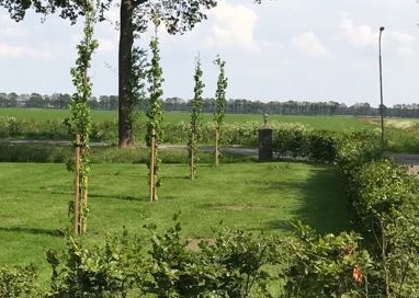
{"label": "leafy foreground shrub with a patch of orange-brown leaves", "polygon": [[361,237],[350,232],[322,237],[296,222],[299,240],[286,271],[286,297],[367,297],[373,262],[361,250]]}

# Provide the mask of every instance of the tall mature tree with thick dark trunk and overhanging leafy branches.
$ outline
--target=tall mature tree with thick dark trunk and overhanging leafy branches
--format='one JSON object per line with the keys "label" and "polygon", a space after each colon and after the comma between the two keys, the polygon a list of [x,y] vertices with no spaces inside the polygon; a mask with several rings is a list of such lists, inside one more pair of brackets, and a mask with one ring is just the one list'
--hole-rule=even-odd
{"label": "tall mature tree with thick dark trunk and overhanging leafy branches", "polygon": [[[206,19],[205,9],[214,8],[217,0],[102,0],[100,12],[112,2],[120,4],[120,51],[118,51],[118,144],[131,146],[133,139],[132,62],[135,36],[147,30],[150,19],[158,16],[170,34],[183,33]],[[29,9],[42,14],[59,13],[75,23],[83,14],[87,0],[0,0],[15,21],[24,19]]]}

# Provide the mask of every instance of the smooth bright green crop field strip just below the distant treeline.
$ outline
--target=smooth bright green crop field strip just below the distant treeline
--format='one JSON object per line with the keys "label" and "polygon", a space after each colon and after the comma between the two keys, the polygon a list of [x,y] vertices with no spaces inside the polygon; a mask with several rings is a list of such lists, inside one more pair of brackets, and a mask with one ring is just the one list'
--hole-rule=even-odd
{"label": "smooth bright green crop field strip just below the distant treeline", "polygon": [[[18,119],[45,122],[63,121],[70,114],[67,110],[42,110],[42,108],[0,108],[0,117],[13,116]],[[116,111],[92,111],[93,122],[116,122]],[[204,122],[211,122],[213,114],[204,113],[202,115]],[[189,113],[170,112],[165,113],[165,122],[178,123],[188,122],[190,119]],[[146,121],[144,114],[139,115],[139,121]],[[227,114],[225,117],[226,123],[246,123],[246,122],[260,122],[262,124],[263,116],[256,114]],[[375,128],[377,123],[366,122],[364,118],[354,116],[287,116],[287,115],[270,115],[269,122],[284,122],[284,123],[302,123],[306,124],[314,129],[329,129],[329,130],[346,130],[346,129],[362,129]]]}

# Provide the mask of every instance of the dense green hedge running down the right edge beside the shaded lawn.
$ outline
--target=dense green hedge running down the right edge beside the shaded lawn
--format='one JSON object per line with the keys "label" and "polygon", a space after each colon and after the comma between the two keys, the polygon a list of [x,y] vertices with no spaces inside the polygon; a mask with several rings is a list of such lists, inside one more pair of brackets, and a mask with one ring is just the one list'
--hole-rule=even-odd
{"label": "dense green hedge running down the right edge beside the shaded lawn", "polygon": [[374,259],[370,294],[418,297],[419,181],[407,168],[381,157],[376,138],[353,134],[338,146],[337,165],[365,244]]}

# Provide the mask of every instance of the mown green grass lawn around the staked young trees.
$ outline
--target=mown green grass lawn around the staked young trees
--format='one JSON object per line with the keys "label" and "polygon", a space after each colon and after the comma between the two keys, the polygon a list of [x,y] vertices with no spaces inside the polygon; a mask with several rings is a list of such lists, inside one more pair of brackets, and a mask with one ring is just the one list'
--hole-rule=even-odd
{"label": "mown green grass lawn around the staked young trees", "polygon": [[[349,215],[336,170],[303,163],[200,165],[195,181],[184,164],[162,164],[159,200],[148,202],[144,164],[93,164],[90,179],[89,241],[125,226],[172,225],[181,210],[188,238],[211,237],[223,221],[248,231],[283,233],[288,220],[302,219],[319,232],[349,229]],[[72,174],[63,164],[0,163],[1,263],[33,262],[47,272],[45,251],[64,248],[58,232],[68,225]],[[46,278],[46,276],[44,276]]]}

